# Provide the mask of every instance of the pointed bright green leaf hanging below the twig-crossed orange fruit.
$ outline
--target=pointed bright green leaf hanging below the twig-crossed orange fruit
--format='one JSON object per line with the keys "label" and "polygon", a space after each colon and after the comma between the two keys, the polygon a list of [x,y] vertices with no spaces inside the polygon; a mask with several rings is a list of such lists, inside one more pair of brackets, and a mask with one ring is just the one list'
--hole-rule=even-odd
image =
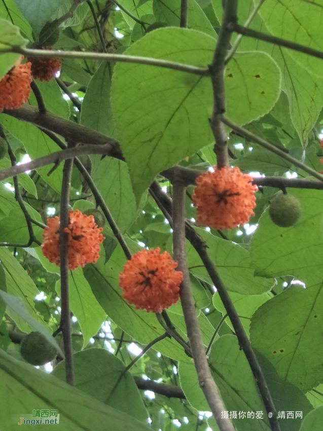
{"label": "pointed bright green leaf hanging below the twig-crossed orange fruit", "polygon": [[[48,272],[59,274],[59,267],[54,263],[50,263],[40,248],[37,248],[36,252],[42,265]],[[105,320],[106,313],[95,299],[90,285],[83,275],[82,268],[69,271],[68,288],[70,309],[78,319],[83,335],[84,348],[90,338],[99,331]],[[55,289],[58,295],[60,295],[60,280],[57,281]]]}

